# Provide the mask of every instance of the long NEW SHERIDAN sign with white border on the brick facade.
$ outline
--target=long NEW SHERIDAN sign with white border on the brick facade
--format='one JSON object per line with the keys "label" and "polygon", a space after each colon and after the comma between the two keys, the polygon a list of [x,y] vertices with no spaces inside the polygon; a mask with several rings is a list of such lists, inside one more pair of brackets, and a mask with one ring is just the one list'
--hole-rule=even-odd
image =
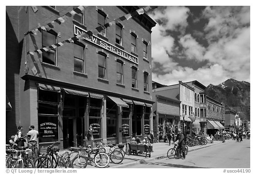
{"label": "long NEW SHERIDAN sign with white border on the brick facade", "polygon": [[[82,28],[74,25],[74,33],[75,35],[81,35],[83,33],[85,33],[86,31],[83,30]],[[132,54],[129,54],[127,52],[125,52],[124,50],[121,50],[119,49],[118,47],[116,46],[113,46],[112,44],[92,35],[92,36],[89,36],[89,37],[86,37],[85,38],[86,40],[88,40],[89,42],[91,43],[94,43],[102,48],[104,48],[105,50],[108,50],[108,51],[111,51],[112,53],[115,53],[123,58],[126,58],[128,59],[129,61],[132,61],[136,64],[138,64],[138,58],[137,57],[134,57]]]}

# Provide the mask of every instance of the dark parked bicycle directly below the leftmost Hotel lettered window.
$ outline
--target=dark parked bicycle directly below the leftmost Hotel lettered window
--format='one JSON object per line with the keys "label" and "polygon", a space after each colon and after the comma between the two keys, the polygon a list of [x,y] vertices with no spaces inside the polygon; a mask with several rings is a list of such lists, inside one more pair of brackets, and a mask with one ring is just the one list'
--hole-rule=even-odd
{"label": "dark parked bicycle directly below the leftmost Hotel lettered window", "polygon": [[34,163],[36,168],[56,168],[57,166],[59,168],[67,168],[64,159],[58,155],[60,149],[52,148],[58,144],[60,144],[59,141],[54,142],[52,145],[47,147],[46,154],[35,159]]}

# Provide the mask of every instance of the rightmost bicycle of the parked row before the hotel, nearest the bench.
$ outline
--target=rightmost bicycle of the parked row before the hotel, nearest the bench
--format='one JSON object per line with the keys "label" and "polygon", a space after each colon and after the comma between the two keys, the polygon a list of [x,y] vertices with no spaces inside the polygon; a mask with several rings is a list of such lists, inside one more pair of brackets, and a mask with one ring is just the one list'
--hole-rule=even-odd
{"label": "rightmost bicycle of the parked row before the hotel, nearest the bench", "polygon": [[[109,149],[108,149],[108,147],[109,147]],[[123,155],[124,151],[122,149],[120,149],[119,147],[117,147],[119,149],[119,151],[117,151],[115,144],[112,144],[112,145],[108,144],[108,147],[106,147],[106,143],[104,143],[102,140],[101,140],[101,143],[98,145],[98,148],[100,151],[102,148],[105,149],[105,153],[108,154],[110,160],[113,163],[120,164],[124,160],[124,155]],[[123,151],[123,153],[121,153],[121,150]]]}

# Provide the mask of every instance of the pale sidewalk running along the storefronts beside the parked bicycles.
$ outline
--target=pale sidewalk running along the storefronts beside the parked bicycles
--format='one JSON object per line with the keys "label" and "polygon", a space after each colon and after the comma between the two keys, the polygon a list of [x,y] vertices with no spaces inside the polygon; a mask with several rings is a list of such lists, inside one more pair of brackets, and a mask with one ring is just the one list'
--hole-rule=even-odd
{"label": "pale sidewalk running along the storefronts beside the parked bicycles", "polygon": [[[226,143],[229,141],[232,141],[231,139],[226,140]],[[188,147],[188,155],[190,151],[195,151],[198,149],[202,149],[205,147],[210,147],[216,144],[220,144],[222,141],[214,141],[213,143],[207,143],[206,145],[198,145],[194,147]],[[107,168],[125,168],[128,166],[134,166],[137,164],[143,164],[145,162],[152,161],[154,159],[162,159],[167,158],[167,151],[173,147],[173,144],[171,146],[168,145],[168,143],[154,143],[153,144],[153,152],[151,152],[151,158],[147,157],[145,158],[145,155],[125,155],[124,160],[120,164],[114,164],[110,161]],[[60,154],[62,154],[62,151],[60,151]],[[88,163],[88,166],[86,168],[98,168],[94,162]]]}

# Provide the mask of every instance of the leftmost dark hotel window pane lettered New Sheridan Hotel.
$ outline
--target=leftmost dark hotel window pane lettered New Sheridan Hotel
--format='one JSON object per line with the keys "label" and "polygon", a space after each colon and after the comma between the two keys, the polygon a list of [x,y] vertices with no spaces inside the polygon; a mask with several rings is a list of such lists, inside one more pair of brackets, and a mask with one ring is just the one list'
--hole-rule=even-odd
{"label": "leftmost dark hotel window pane lettered New Sheridan Hotel", "polygon": [[58,116],[38,116],[39,142],[58,141]]}

